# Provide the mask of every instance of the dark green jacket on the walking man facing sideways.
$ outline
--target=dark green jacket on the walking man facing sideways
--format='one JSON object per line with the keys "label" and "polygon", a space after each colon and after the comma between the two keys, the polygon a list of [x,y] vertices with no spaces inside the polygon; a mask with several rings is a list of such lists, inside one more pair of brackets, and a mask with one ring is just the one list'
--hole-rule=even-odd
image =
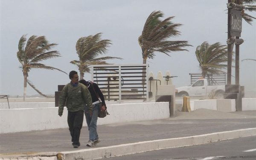
{"label": "dark green jacket on the walking man facing sideways", "polygon": [[77,86],[72,86],[71,83],[64,86],[59,98],[58,115],[62,115],[66,99],[68,111],[83,111],[86,106],[90,111],[93,109],[90,91],[81,83]]}

